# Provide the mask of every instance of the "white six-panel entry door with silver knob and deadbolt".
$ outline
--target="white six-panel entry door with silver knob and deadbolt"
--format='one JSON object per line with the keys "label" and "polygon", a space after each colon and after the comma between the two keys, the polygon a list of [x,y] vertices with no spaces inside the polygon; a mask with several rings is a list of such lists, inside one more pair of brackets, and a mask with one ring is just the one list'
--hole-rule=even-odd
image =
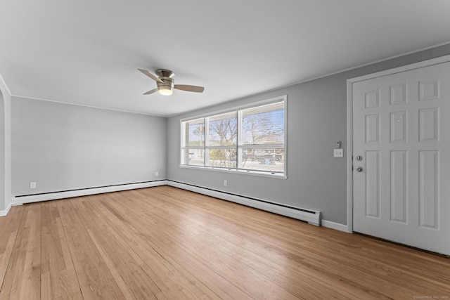
{"label": "white six-panel entry door with silver knob and deadbolt", "polygon": [[450,255],[450,62],[352,90],[354,231]]}

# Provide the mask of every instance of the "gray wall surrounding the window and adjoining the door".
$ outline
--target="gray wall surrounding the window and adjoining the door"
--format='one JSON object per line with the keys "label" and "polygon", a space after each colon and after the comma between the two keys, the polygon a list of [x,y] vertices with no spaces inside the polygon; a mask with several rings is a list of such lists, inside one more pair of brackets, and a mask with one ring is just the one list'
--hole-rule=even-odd
{"label": "gray wall surrounding the window and adjoining the door", "polygon": [[[347,158],[333,157],[335,141],[338,140],[342,141],[345,155],[347,153],[347,79],[448,54],[450,45],[439,46],[171,117],[167,135],[168,178],[238,195],[317,209],[323,212],[324,220],[347,224]],[[180,119],[281,95],[288,95],[287,179],[179,167]],[[223,184],[225,179],[228,181],[226,187]]]}

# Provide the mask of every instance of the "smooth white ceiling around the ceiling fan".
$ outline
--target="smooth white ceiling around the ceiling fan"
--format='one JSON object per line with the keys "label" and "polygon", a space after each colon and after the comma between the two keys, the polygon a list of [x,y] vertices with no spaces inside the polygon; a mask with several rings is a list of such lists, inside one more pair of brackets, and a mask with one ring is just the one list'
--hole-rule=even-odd
{"label": "smooth white ceiling around the ceiling fan", "polygon": [[[15,96],[170,116],[450,41],[449,0],[1,0]],[[204,93],[158,93],[173,70]]]}

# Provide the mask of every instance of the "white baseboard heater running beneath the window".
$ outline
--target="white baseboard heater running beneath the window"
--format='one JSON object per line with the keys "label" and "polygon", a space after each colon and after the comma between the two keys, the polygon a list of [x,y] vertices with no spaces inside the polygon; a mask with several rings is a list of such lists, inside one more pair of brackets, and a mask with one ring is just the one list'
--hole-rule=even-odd
{"label": "white baseboard heater running beneath the window", "polygon": [[181,188],[183,190],[190,190],[191,192],[216,197],[222,200],[243,204],[248,207],[254,207],[264,211],[270,211],[274,214],[280,214],[282,216],[288,216],[293,219],[301,220],[313,224],[316,226],[321,225],[321,211],[315,211],[311,209],[301,209],[299,207],[291,207],[284,204],[277,204],[266,200],[255,199],[251,197],[245,197],[241,195],[235,195],[231,193],[221,192],[219,190],[212,190],[210,188],[202,188],[196,185],[189,185],[186,183],[180,183],[177,181],[167,181],[167,185],[175,188]]}

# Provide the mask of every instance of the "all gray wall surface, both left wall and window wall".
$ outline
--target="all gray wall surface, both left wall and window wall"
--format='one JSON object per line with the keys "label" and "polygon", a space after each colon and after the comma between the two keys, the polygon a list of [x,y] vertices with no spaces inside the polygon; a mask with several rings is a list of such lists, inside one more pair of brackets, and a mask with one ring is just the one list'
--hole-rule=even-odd
{"label": "all gray wall surface, both left wall and window wall", "polygon": [[[334,158],[333,148],[340,140],[347,153],[347,79],[449,54],[450,45],[440,46],[168,120],[12,97],[12,194],[169,178],[321,210],[324,220],[346,224],[346,157]],[[281,95],[288,95],[287,179],[179,167],[180,119]]]}

